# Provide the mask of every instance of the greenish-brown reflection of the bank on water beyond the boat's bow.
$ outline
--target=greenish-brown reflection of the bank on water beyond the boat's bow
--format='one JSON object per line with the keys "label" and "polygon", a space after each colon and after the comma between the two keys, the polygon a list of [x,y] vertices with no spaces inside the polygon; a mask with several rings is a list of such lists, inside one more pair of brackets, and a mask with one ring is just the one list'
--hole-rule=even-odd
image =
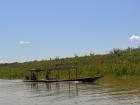
{"label": "greenish-brown reflection of the bank on water beyond the boat's bow", "polygon": [[136,77],[110,77],[102,79],[100,84],[113,101],[126,105],[140,105],[140,78]]}

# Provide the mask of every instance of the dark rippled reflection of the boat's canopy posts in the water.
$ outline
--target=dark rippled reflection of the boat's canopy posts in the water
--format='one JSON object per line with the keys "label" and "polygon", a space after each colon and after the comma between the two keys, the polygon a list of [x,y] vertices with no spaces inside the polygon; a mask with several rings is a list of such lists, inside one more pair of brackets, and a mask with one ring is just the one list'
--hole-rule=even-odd
{"label": "dark rippled reflection of the boat's canopy posts in the water", "polygon": [[56,82],[56,83],[26,83],[27,90],[30,90],[35,97],[59,96],[64,95],[69,98],[78,96],[79,83]]}

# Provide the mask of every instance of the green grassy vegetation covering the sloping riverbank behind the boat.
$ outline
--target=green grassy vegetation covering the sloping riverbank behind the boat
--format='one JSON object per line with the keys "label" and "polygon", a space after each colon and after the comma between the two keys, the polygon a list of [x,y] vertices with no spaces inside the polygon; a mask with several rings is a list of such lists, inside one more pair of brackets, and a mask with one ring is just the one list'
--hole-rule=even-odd
{"label": "green grassy vegetation covering the sloping riverbank behind the boat", "polygon": [[[82,57],[56,58],[51,60],[31,61],[24,63],[12,63],[0,65],[1,79],[23,79],[28,71],[33,68],[44,69],[47,66],[54,67],[56,64],[79,66],[78,77],[100,75],[140,75],[140,48],[127,48],[125,50],[113,49],[108,54],[95,55],[89,54]],[[55,71],[52,71],[56,75]],[[60,78],[67,78],[68,71],[61,71]],[[44,73],[39,74],[40,78],[44,78]],[[71,77],[74,77],[71,72]],[[54,78],[52,76],[52,78]]]}

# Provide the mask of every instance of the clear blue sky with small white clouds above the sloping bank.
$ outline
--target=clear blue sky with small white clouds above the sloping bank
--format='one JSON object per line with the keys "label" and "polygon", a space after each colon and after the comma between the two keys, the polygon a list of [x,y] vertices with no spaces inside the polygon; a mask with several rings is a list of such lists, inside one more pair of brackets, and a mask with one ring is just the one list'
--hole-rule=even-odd
{"label": "clear blue sky with small white clouds above the sloping bank", "polygon": [[1,0],[0,63],[140,45],[140,0]]}

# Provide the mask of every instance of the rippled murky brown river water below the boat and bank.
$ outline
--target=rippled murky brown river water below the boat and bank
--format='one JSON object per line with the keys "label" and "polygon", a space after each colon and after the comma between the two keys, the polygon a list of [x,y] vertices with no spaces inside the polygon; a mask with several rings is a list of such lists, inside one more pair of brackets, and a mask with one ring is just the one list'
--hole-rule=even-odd
{"label": "rippled murky brown river water below the boat and bank", "polygon": [[139,80],[24,83],[0,80],[0,105],[140,105]]}

